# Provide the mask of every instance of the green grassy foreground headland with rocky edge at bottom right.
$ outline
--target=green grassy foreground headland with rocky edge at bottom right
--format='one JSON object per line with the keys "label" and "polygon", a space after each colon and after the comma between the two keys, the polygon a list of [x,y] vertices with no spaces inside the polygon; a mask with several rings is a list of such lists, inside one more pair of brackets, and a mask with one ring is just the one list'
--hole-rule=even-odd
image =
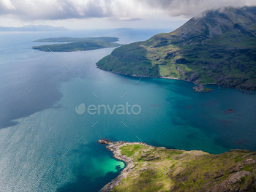
{"label": "green grassy foreground headland with rocky edge at bottom right", "polygon": [[172,150],[142,142],[101,139],[126,168],[100,192],[108,191],[256,191],[256,152]]}

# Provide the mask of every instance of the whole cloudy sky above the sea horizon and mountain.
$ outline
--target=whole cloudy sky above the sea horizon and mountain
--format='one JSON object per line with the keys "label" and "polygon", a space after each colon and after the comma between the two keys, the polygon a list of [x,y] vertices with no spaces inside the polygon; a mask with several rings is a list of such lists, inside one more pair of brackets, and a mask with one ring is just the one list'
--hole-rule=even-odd
{"label": "whole cloudy sky above the sea horizon and mountain", "polygon": [[256,5],[256,0],[0,0],[0,26],[178,28],[207,9]]}

